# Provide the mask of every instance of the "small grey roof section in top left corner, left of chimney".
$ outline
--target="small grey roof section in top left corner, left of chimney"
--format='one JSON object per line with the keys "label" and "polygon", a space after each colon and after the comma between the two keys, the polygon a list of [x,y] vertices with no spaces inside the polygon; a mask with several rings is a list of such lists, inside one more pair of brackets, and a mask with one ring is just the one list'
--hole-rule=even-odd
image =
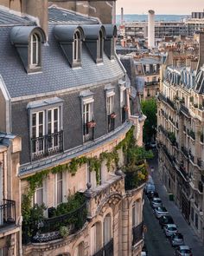
{"label": "small grey roof section in top left corner, left of chimney", "polygon": [[8,10],[0,9],[0,26],[1,25],[35,25],[34,21],[29,20],[27,16],[17,16]]}

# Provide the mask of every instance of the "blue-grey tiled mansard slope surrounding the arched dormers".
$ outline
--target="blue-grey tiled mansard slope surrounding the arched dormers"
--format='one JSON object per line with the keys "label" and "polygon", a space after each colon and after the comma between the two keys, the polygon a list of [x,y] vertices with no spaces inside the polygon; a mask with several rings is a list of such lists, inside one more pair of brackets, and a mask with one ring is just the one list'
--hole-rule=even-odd
{"label": "blue-grey tiled mansard slope surrounding the arched dormers", "polygon": [[82,68],[72,69],[54,38],[53,29],[54,26],[49,26],[49,41],[41,47],[42,72],[28,75],[15,46],[10,43],[11,27],[0,26],[0,75],[11,98],[108,82],[124,75],[116,57],[111,61],[104,54],[104,62],[96,64],[84,44]]}

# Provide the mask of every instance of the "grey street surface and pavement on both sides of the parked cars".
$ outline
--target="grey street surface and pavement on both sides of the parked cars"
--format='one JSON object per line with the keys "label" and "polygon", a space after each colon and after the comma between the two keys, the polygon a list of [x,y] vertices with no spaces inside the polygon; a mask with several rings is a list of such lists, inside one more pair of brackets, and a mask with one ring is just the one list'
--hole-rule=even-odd
{"label": "grey street surface and pavement on both sides of the parked cars", "polygon": [[[192,248],[194,256],[204,256],[204,246],[201,241],[195,235],[191,226],[184,220],[179,208],[175,206],[173,201],[169,201],[169,196],[165,187],[160,181],[159,174],[157,173],[157,159],[154,158],[149,161],[150,167],[153,166],[155,171],[151,174],[156,185],[156,191],[159,197],[163,201],[163,205],[168,209],[170,215],[178,226],[179,232],[184,236],[184,242],[186,245]],[[153,214],[153,210],[150,207],[150,202],[145,196],[143,206],[143,220],[144,225],[147,226],[147,233],[145,233],[145,244],[148,250],[149,256],[170,256],[174,255],[174,249],[170,246],[169,240],[165,238],[162,228],[160,227],[158,220]]]}

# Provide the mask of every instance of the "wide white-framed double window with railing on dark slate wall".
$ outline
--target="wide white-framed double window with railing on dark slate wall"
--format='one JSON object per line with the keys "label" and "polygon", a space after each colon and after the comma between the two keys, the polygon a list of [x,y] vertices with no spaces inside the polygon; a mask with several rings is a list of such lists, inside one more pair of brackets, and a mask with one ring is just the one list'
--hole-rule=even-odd
{"label": "wide white-framed double window with railing on dark slate wall", "polygon": [[[50,104],[54,107],[50,108]],[[54,104],[55,103],[55,104]],[[42,102],[29,102],[31,159],[63,151],[62,101],[54,97]]]}

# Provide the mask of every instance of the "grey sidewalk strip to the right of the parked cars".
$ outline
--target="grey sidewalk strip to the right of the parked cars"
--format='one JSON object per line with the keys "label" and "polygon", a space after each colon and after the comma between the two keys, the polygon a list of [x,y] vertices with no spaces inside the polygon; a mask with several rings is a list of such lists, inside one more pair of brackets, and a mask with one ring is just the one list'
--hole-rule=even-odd
{"label": "grey sidewalk strip to the right of the parked cars", "polygon": [[159,197],[163,201],[163,205],[167,208],[170,215],[175,221],[175,224],[178,226],[179,232],[183,234],[184,242],[187,246],[192,248],[194,256],[204,256],[204,245],[201,243],[201,240],[196,236],[194,230],[191,226],[188,225],[186,220],[183,218],[181,211],[178,207],[175,206],[173,201],[169,200],[169,196],[162,182],[160,181],[159,174],[156,172],[157,160],[149,161],[150,166],[155,167],[155,171],[151,173],[153,180],[155,181],[156,191],[159,194]]}

